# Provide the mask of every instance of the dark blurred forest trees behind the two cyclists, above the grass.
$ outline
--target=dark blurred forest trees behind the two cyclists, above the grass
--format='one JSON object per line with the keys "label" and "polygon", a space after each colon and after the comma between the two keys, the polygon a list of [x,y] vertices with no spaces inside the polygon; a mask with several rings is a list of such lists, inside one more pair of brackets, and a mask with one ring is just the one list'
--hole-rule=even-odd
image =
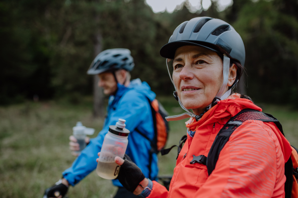
{"label": "dark blurred forest trees behind the two cyclists, above the grass", "polygon": [[209,8],[189,0],[173,13],[154,13],[144,0],[2,0],[0,2],[0,104],[92,95],[86,70],[96,45],[131,49],[133,78],[147,81],[157,95],[173,91],[159,49],[173,30],[197,16],[221,18],[246,47],[247,94],[257,102],[298,99],[298,2],[219,1]]}

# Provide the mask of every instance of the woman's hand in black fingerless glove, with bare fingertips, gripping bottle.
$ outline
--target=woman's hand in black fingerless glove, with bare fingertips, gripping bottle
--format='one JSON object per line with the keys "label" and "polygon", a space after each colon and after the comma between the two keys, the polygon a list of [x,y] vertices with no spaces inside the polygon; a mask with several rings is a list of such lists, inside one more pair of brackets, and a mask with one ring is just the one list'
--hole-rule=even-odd
{"label": "woman's hand in black fingerless glove, with bare fingertips, gripping bottle", "polygon": [[[98,156],[99,155],[100,152],[98,153]],[[98,159],[99,158],[96,159],[97,162]],[[132,162],[127,154],[125,154],[124,159],[117,156],[114,160],[116,164],[121,166],[119,175],[116,179],[118,179],[128,191],[135,195],[140,195],[144,188],[148,186],[148,179],[145,178],[141,169]]]}

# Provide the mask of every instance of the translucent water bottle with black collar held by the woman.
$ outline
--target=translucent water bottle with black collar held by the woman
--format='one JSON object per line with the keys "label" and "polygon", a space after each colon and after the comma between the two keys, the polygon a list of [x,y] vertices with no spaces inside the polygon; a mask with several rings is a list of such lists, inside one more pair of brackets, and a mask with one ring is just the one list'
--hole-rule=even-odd
{"label": "translucent water bottle with black collar held by the woman", "polygon": [[101,147],[96,173],[104,179],[115,179],[118,176],[120,166],[116,164],[115,157],[124,157],[129,130],[125,128],[125,120],[119,119],[116,125],[111,125],[105,135]]}

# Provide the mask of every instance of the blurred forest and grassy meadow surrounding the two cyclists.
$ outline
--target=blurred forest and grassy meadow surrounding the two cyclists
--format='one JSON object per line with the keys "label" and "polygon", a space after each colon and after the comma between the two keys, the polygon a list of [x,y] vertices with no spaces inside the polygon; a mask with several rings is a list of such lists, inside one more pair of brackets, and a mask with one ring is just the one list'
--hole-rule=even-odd
{"label": "blurred forest and grassy meadow surrounding the two cyclists", "polygon": [[[177,0],[159,0],[165,1]],[[234,0],[226,9],[220,0],[197,0],[195,7],[193,1],[172,13],[154,13],[145,0],[0,1],[1,198],[42,197],[75,159],[69,150],[75,123],[95,128],[91,138],[102,129],[91,96],[104,98],[86,71],[104,49],[131,49],[132,78],[147,81],[170,115],[182,113],[159,49],[179,24],[198,16],[223,19],[241,35],[246,94],[298,146],[298,1]],[[211,6],[204,9],[204,1]],[[184,122],[169,122],[166,148],[185,135]],[[159,175],[173,173],[176,154],[158,154]],[[93,171],[68,197],[111,198],[116,190]]]}

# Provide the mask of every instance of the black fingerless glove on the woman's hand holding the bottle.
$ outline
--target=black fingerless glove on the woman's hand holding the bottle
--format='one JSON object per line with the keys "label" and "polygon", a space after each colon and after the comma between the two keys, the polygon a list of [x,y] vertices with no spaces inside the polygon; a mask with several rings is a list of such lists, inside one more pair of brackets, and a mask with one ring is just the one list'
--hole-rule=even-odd
{"label": "black fingerless glove on the woman's hand holding the bottle", "polygon": [[131,160],[131,158],[125,154],[124,158],[125,161],[121,165],[119,175],[116,179],[120,181],[126,190],[130,192],[134,192],[140,182],[145,179],[142,170]]}

